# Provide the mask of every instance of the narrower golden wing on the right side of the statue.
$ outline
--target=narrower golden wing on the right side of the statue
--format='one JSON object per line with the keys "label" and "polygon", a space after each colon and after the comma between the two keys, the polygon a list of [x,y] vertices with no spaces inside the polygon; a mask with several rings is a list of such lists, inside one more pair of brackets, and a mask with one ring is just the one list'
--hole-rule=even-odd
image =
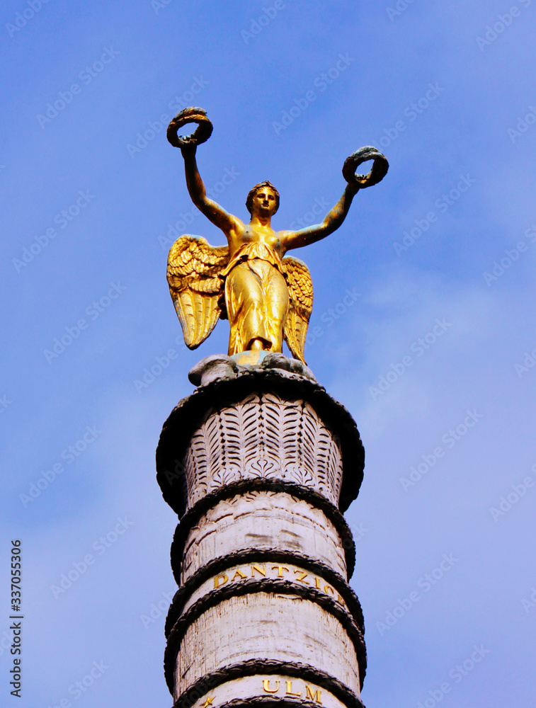
{"label": "narrower golden wing on the right side of the statue", "polygon": [[287,256],[281,261],[287,274],[288,295],[290,299],[285,329],[283,334],[292,356],[305,363],[303,358],[305,336],[309,317],[313,309],[313,282],[309,268],[298,258]]}

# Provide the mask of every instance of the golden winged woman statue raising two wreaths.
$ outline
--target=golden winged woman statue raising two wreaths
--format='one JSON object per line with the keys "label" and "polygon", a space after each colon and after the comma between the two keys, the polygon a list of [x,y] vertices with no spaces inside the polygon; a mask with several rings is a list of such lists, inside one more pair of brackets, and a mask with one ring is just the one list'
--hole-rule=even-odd
{"label": "golden winged woman statue raising two wreaths", "polygon": [[[188,122],[198,123],[195,132],[179,136],[178,130]],[[186,346],[198,347],[221,318],[228,319],[231,327],[229,355],[247,350],[281,352],[284,338],[292,355],[304,362],[312,280],[307,265],[285,253],[338,229],[358,190],[376,184],[387,173],[387,159],[372,147],[353,153],[343,167],[346,189],[324,221],[297,231],[275,232],[271,219],[279,207],[279,193],[269,181],[249,191],[247,224],[207,197],[195,152],[211,133],[212,123],[202,108],[185,108],[167,131],[169,142],[181,148],[193,203],[227,239],[227,246],[213,247],[200,236],[185,235],[169,251],[169,290]],[[370,159],[374,161],[370,173],[356,175],[355,168]]]}

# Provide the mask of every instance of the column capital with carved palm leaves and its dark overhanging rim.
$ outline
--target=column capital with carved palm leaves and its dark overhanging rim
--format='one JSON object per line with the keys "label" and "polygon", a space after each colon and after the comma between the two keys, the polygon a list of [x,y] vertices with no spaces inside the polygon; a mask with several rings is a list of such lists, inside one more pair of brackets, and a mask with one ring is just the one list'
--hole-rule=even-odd
{"label": "column capital with carved palm leaves and its dark overhanging rim", "polygon": [[[270,355],[275,362],[278,357],[283,355]],[[203,496],[196,476],[204,493],[228,479],[309,476],[305,484],[346,510],[358,495],[365,457],[348,411],[302,375],[240,369],[196,389],[164,424],[156,450],[164,499],[183,515]]]}

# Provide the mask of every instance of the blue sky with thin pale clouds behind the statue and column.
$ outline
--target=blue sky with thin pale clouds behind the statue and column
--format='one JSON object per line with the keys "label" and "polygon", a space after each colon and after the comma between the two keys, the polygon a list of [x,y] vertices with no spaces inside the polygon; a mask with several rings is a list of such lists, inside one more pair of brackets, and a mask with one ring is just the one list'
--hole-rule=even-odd
{"label": "blue sky with thin pale clouds behind the statue and column", "polygon": [[[188,370],[228,337],[220,323],[199,350],[181,346],[165,278],[175,229],[223,243],[190,212],[165,137],[177,110],[200,105],[214,125],[198,149],[205,184],[244,219],[247,192],[270,179],[277,229],[333,205],[359,147],[389,159],[338,232],[295,253],[315,288],[309,366],[367,455],[346,514],[363,701],[532,708],[536,1],[273,7],[2,4],[0,636],[18,538],[18,705],[171,704],[158,607],[174,591],[176,518],[154,450]],[[71,587],[51,589],[88,555]],[[69,693],[92,668],[93,685]]]}

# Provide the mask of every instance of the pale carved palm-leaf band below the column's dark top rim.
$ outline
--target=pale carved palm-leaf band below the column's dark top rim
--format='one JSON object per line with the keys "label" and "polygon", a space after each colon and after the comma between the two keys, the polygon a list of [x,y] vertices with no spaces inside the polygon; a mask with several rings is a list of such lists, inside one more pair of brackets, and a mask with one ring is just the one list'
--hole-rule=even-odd
{"label": "pale carved palm-leaf band below the column's dark top rim", "polygon": [[335,504],[341,491],[338,440],[312,406],[272,393],[210,411],[184,464],[188,506],[225,484],[254,477],[311,486]]}

